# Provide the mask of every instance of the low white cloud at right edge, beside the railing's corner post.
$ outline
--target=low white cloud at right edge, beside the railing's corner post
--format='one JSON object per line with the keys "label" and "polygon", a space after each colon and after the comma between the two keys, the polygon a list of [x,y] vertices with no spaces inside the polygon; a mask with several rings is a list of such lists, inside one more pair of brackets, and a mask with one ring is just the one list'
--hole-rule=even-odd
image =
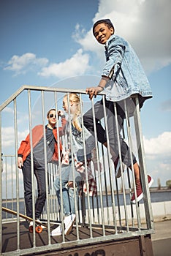
{"label": "low white cloud at right edge, beside the railing's corner post", "polygon": [[145,154],[148,158],[167,159],[171,156],[171,132],[163,132],[157,138],[144,138]]}

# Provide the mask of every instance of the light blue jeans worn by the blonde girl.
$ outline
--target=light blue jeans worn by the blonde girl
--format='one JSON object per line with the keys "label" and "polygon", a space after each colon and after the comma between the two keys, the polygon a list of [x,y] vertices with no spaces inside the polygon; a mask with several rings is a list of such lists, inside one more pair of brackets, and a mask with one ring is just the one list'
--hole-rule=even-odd
{"label": "light blue jeans worn by the blonde girl", "polygon": [[[75,172],[75,187],[76,187],[76,197],[77,197],[77,189],[79,186],[79,181],[82,180],[81,174],[74,170]],[[68,216],[69,214],[75,214],[75,197],[74,197],[74,189],[66,187],[68,181],[74,181],[72,165],[62,165],[61,167],[61,176],[56,176],[56,180],[54,181],[54,188],[56,189],[56,195],[58,197],[58,204],[61,207],[61,195],[60,195],[60,177],[61,177],[61,187],[62,187],[62,200],[64,207],[64,215]]]}

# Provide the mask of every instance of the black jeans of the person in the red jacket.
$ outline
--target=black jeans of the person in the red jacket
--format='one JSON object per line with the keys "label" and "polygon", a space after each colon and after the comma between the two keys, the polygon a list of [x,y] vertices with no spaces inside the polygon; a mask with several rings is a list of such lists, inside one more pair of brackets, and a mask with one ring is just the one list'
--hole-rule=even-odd
{"label": "black jeans of the person in the red jacket", "polygon": [[[39,219],[42,214],[43,206],[46,200],[46,185],[45,185],[45,164],[37,162],[34,159],[34,175],[37,178],[38,195],[35,203],[35,218]],[[31,157],[30,154],[23,164],[23,182],[24,182],[24,199],[26,204],[26,214],[28,217],[33,217],[32,207],[32,183],[31,183]]]}

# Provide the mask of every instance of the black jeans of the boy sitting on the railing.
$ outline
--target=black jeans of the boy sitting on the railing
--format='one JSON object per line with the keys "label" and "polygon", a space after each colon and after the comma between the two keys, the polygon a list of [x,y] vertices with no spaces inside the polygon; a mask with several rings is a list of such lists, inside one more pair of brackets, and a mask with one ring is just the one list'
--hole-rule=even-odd
{"label": "black jeans of the boy sitting on the railing", "polygon": [[[131,155],[129,146],[126,144],[126,142],[121,137],[121,129],[123,128],[123,118],[124,118],[124,112],[123,109],[116,104],[117,106],[117,119],[118,119],[118,134],[119,134],[119,141],[121,145],[121,158],[123,163],[126,166],[131,165]],[[110,148],[115,152],[115,158],[118,157],[118,136],[117,136],[117,128],[116,128],[116,121],[115,121],[115,112],[113,107],[113,102],[105,100],[105,107],[106,107],[106,114],[107,114],[107,129],[108,129],[108,135],[109,135],[109,143]],[[96,102],[94,105],[94,113],[95,113],[95,120],[96,120],[96,133],[97,133],[97,140],[104,144],[107,142],[107,136],[106,131],[102,127],[102,125],[99,123],[99,121],[104,118],[104,107],[103,107],[103,101],[100,100],[99,102]],[[94,135],[94,119],[93,119],[93,112],[92,109],[88,110],[84,116],[84,125],[85,127]],[[133,164],[136,161],[134,154],[132,154]]]}

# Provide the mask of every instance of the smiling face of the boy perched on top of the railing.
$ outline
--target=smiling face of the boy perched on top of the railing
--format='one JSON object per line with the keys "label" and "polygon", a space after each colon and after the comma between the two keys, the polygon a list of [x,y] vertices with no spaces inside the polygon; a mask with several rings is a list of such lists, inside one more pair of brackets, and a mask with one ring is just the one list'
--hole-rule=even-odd
{"label": "smiling face of the boy perched on top of the railing", "polygon": [[94,37],[102,45],[107,42],[112,34],[114,34],[113,27],[109,28],[105,23],[99,23],[94,28]]}

